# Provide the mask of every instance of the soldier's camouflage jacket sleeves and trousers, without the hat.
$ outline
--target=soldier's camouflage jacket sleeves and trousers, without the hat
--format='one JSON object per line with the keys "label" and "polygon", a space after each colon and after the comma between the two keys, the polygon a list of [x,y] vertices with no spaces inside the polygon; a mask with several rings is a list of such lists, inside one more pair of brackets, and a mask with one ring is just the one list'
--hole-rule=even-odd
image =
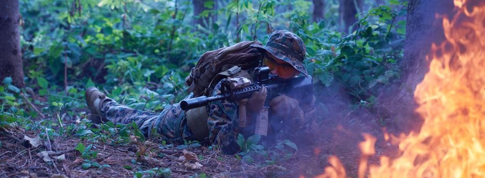
{"label": "soldier's camouflage jacket sleeves and trousers, without the hat", "polygon": [[[217,83],[212,96],[220,94],[221,82]],[[187,98],[192,97],[189,95]],[[311,114],[314,112],[313,105],[308,107],[300,106],[301,113],[304,113],[301,118],[303,125],[299,127],[291,123],[280,124],[282,118],[270,117],[273,123],[270,125],[269,138],[275,139],[276,133],[299,133],[302,131],[309,131],[308,128],[315,126],[310,120]],[[238,105],[235,102],[227,100],[215,101],[206,106],[207,113],[209,113],[208,127],[209,127],[209,141],[213,144],[220,145],[222,151],[226,154],[235,154],[239,152],[240,148],[236,142],[239,133],[244,137],[248,137],[254,133],[254,123],[245,128],[238,126]],[[271,115],[271,114],[270,114]],[[163,109],[160,114],[142,111],[126,107],[118,104],[116,101],[106,102],[101,108],[101,116],[113,123],[130,124],[135,122],[140,131],[146,136],[153,136],[157,132],[163,140],[183,143],[183,139],[195,140],[192,132],[187,125],[187,117],[185,111],[180,108],[180,105],[173,104]],[[312,130],[312,129],[310,129]],[[311,133],[301,133],[308,135]],[[296,134],[296,135],[301,135]]]}

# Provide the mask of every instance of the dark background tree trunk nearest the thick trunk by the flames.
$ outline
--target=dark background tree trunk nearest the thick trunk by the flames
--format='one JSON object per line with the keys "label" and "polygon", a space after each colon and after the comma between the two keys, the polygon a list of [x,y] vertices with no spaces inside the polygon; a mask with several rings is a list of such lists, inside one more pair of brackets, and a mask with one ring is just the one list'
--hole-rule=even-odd
{"label": "dark background tree trunk nearest the thick trunk by the flames", "polygon": [[[344,32],[347,32],[349,27],[357,22],[355,15],[361,10],[362,0],[340,0],[340,21],[343,24]],[[352,31],[355,29],[357,26],[352,27]]]}

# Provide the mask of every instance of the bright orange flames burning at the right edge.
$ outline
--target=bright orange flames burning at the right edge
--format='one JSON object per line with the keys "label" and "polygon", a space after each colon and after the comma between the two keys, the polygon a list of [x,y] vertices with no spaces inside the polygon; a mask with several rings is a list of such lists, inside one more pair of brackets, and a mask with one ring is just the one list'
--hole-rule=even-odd
{"label": "bright orange flames burning at the right edge", "polygon": [[[431,46],[429,72],[415,91],[424,124],[399,138],[399,158],[381,157],[368,177],[485,177],[485,4],[454,4],[456,15],[443,19],[446,40]],[[369,153],[363,150],[363,157]],[[326,175],[342,169],[333,162]]]}

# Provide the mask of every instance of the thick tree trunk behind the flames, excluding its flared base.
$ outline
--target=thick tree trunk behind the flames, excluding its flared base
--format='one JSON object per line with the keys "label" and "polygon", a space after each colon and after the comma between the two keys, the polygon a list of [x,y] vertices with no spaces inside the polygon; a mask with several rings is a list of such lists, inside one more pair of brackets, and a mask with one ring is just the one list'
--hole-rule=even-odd
{"label": "thick tree trunk behind the flames, excluding its flared base", "polygon": [[413,87],[412,91],[428,71],[429,63],[426,62],[426,55],[430,52],[431,44],[441,43],[445,37],[442,18],[436,18],[436,14],[450,17],[453,10],[453,1],[409,1],[404,58],[401,61],[401,67],[403,81]]}

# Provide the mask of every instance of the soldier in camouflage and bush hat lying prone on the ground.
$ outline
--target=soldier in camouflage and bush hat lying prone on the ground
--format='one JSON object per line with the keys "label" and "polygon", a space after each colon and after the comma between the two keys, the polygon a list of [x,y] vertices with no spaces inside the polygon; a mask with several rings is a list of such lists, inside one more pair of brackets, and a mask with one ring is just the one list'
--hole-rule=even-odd
{"label": "soldier in camouflage and bush hat lying prone on the ground", "polygon": [[[294,33],[275,31],[265,46],[252,44],[250,48],[258,49],[259,54],[252,57],[254,58],[252,60],[264,64],[268,75],[273,78],[283,81],[284,84],[291,84],[286,81],[295,80],[295,77],[300,75],[300,78],[306,78],[311,82],[311,76],[302,64],[306,53],[305,45]],[[295,95],[295,93],[302,92],[300,90],[289,93],[277,92],[277,95],[268,96],[268,91],[274,92],[271,92],[271,88],[265,87],[269,84],[262,82],[261,75],[248,75],[251,73],[248,71],[254,71],[255,68],[246,71],[237,67],[239,65],[244,66],[244,64],[229,66],[229,69],[219,73],[230,75],[224,75],[226,79],[215,81],[216,84],[206,87],[206,95],[220,97],[227,94],[224,90],[238,89],[240,87],[230,88],[231,82],[238,82],[238,80],[244,81],[233,83],[234,87],[259,83],[258,91],[252,91],[250,95],[238,100],[226,97],[206,102],[206,105],[188,111],[182,109],[181,104],[169,105],[159,114],[137,110],[108,98],[96,87],[89,87],[85,93],[86,103],[92,114],[100,116],[100,118],[92,117],[92,122],[111,121],[115,124],[135,122],[146,137],[157,132],[162,139],[171,142],[180,143],[184,139],[210,142],[218,144],[225,154],[235,154],[241,150],[236,142],[238,134],[267,135],[269,140],[276,139],[276,135],[281,132],[289,133],[290,137],[315,136],[316,124],[312,120],[315,112],[313,95],[298,97],[301,95]],[[312,89],[305,90],[312,91]],[[194,93],[201,95],[193,91],[184,101],[194,101]],[[269,126],[266,128],[261,122],[264,121],[263,117],[266,117],[266,123],[269,121]]]}

